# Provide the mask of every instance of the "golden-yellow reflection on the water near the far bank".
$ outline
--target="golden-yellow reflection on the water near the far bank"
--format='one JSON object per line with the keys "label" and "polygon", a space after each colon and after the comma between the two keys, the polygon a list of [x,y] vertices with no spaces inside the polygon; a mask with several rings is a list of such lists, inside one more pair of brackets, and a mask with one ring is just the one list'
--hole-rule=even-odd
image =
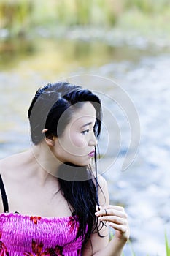
{"label": "golden-yellow reflection on the water near the far bank", "polygon": [[67,70],[74,71],[80,67],[100,67],[112,61],[139,61],[140,56],[159,53],[161,48],[138,49],[121,44],[115,46],[100,40],[89,42],[80,39],[20,38],[0,41],[0,68],[1,70],[15,68],[16,65],[22,65],[22,61],[24,63],[27,61],[27,64],[36,63],[34,65],[36,70],[53,69],[60,73]]}

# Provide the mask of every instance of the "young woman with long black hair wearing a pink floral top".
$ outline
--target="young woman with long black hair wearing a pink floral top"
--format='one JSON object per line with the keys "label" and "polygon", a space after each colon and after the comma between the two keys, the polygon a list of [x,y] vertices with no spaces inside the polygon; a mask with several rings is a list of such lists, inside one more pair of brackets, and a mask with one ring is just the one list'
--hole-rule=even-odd
{"label": "young woman with long black hair wearing a pink floral top", "polygon": [[0,161],[0,255],[120,256],[127,214],[109,205],[96,168],[100,99],[66,82],[47,84],[28,118],[31,148]]}

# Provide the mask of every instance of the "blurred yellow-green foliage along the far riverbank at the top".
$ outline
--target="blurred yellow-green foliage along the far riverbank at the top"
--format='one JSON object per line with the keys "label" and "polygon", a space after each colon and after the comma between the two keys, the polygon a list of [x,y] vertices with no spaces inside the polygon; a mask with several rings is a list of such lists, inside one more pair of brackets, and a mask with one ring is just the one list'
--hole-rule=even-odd
{"label": "blurred yellow-green foliage along the far riverbank at the top", "polygon": [[22,34],[35,26],[104,26],[121,24],[169,27],[169,0],[1,0],[0,29]]}

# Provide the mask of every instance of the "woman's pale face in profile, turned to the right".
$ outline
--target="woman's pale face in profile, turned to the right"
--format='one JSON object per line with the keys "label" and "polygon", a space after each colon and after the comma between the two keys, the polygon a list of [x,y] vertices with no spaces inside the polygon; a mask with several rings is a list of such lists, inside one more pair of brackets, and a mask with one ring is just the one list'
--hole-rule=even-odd
{"label": "woman's pale face in profile, turned to the right", "polygon": [[89,165],[97,144],[93,127],[96,122],[96,110],[90,102],[84,102],[82,108],[74,111],[63,135],[55,138],[53,154],[61,162],[74,165]]}

